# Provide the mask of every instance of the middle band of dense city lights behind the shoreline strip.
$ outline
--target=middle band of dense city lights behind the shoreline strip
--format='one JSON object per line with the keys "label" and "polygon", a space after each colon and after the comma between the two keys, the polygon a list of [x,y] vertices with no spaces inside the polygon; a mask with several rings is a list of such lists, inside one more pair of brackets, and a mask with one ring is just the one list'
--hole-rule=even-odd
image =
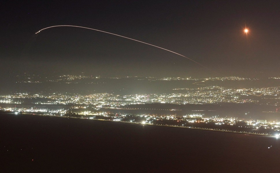
{"label": "middle band of dense city lights behind the shoreline strip", "polygon": [[[280,101],[280,87],[254,88],[254,89],[227,89],[221,86],[204,86],[200,88],[173,89],[176,93],[162,94],[132,94],[114,95],[97,93],[91,95],[67,94],[35,94],[28,95],[16,93],[14,95],[1,95],[1,103],[12,102],[11,99],[47,98],[49,101],[36,101],[36,104],[93,104],[124,106],[127,104],[145,103],[171,103],[171,104],[211,104],[211,103],[256,103],[278,106]],[[257,96],[257,97],[255,97]],[[10,100],[9,100],[10,99]]]}

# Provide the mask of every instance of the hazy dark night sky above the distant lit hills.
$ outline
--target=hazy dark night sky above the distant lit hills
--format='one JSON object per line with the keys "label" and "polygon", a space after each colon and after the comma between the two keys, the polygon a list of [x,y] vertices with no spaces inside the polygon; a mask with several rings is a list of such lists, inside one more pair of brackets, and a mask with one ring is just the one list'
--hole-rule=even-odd
{"label": "hazy dark night sky above the distant lit hills", "polygon": [[[2,75],[208,77],[280,72],[280,1],[3,0],[0,6]],[[35,35],[53,25],[130,37],[210,70],[171,52],[97,31],[56,27]]]}

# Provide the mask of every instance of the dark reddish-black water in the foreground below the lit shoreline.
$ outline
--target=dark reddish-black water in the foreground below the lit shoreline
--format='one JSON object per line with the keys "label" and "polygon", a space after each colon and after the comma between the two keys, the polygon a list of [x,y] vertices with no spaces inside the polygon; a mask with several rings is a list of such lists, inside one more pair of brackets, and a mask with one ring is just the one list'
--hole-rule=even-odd
{"label": "dark reddish-black water in the foreground below the lit shoreline", "polygon": [[279,145],[274,137],[0,114],[0,172],[280,172]]}

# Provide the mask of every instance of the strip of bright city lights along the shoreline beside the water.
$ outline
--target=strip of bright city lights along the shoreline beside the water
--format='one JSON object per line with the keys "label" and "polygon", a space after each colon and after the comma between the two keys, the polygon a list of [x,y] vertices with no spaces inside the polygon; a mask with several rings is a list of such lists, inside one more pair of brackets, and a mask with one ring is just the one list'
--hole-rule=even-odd
{"label": "strip of bright city lights along the shoreline beside the water", "polygon": [[[76,107],[77,110],[79,109]],[[74,109],[74,108],[73,108]],[[121,121],[128,123],[141,123],[150,125],[166,125],[176,127],[188,127],[197,129],[219,130],[229,132],[241,132],[250,134],[260,134],[279,137],[280,122],[267,122],[266,120],[241,120],[237,118],[221,118],[217,116],[203,117],[203,114],[191,114],[182,117],[176,115],[158,116],[155,114],[141,114],[141,115],[122,115],[111,114],[110,112],[98,112],[79,109],[79,116],[70,113],[70,110],[58,109],[37,109],[37,108],[2,108],[2,111],[13,111],[15,114],[33,114],[44,116],[59,116],[68,118],[81,119],[98,119],[107,121]],[[174,124],[175,123],[175,124]],[[199,126],[204,124],[204,126]],[[209,124],[209,126],[205,126]],[[221,127],[220,127],[221,126]],[[232,129],[231,127],[234,127]],[[264,131],[261,131],[263,129]]]}

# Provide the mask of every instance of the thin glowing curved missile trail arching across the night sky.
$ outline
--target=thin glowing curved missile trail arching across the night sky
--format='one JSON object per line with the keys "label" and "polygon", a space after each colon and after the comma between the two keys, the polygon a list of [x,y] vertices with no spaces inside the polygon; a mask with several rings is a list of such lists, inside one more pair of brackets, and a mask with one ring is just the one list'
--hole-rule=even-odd
{"label": "thin glowing curved missile trail arching across the night sky", "polygon": [[[100,31],[100,30],[97,30],[97,29],[92,29],[92,28],[87,28],[87,27],[80,27],[80,26],[73,26],[73,25],[57,25],[57,26],[51,26],[51,27],[47,27],[47,28],[41,29],[40,31],[45,30],[45,29],[48,29],[48,28],[53,28],[53,27],[78,27],[78,28],[91,29],[91,30],[94,30],[94,31]],[[39,33],[40,31],[36,32],[35,34]],[[139,41],[139,40],[135,40],[135,39],[132,39],[132,38],[124,37],[124,36],[122,36],[122,35],[117,35],[117,34],[109,33],[109,32],[106,32],[106,31],[100,31],[100,32],[108,33],[108,34],[112,34],[112,35],[116,35],[116,36],[119,36],[119,37],[123,37],[123,38],[127,38],[127,39],[130,39],[130,40],[134,40],[134,41],[136,41],[136,42],[148,44],[148,45],[150,45],[150,46],[154,46],[154,47],[157,47],[157,48],[160,48],[160,49],[163,49],[163,50],[167,50],[167,51],[169,51],[169,52],[172,52],[172,53],[175,53],[175,54],[177,54],[177,55],[180,55],[180,56],[182,56],[182,57],[184,57],[184,58],[187,58],[187,59],[189,59],[189,60],[191,60],[191,61],[197,63],[198,65],[200,65],[200,66],[202,66],[202,67],[204,67],[204,68],[206,68],[206,69],[208,69],[208,70],[211,70],[211,69],[205,67],[204,65],[202,65],[202,64],[200,64],[200,63],[198,63],[198,62],[196,62],[196,61],[194,61],[194,60],[192,60],[192,59],[190,59],[190,58],[188,58],[188,57],[185,57],[184,55],[181,55],[181,54],[178,54],[178,53],[176,53],[176,52],[173,52],[173,51],[171,51],[171,50],[168,50],[168,49],[165,49],[165,48],[161,48],[161,47],[158,47],[158,46],[149,44],[149,43],[141,42],[141,41]],[[213,70],[211,70],[211,71],[213,71]],[[213,72],[214,72],[214,71],[213,71]],[[215,72],[215,73],[216,73],[216,72]]]}

